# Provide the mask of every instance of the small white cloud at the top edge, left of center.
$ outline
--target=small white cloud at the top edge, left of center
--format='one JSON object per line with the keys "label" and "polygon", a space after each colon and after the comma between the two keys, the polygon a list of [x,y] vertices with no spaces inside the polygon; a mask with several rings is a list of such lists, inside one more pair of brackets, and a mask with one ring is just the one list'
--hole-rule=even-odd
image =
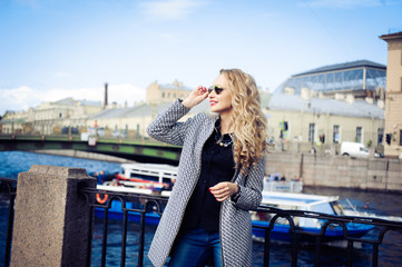
{"label": "small white cloud at the top edge, left of center", "polygon": [[151,18],[165,20],[185,18],[205,4],[207,4],[206,1],[199,0],[158,0],[140,3]]}

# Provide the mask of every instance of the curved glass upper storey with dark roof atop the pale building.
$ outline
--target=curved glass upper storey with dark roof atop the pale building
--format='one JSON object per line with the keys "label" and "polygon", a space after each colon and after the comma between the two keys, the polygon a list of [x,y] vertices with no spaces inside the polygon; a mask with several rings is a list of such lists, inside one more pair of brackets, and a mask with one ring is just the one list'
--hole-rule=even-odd
{"label": "curved glass upper storey with dark roof atop the pale building", "polygon": [[375,95],[379,97],[379,90],[384,90],[385,82],[386,66],[369,60],[359,60],[294,75],[283,82],[276,92],[285,93],[292,90],[292,93],[301,95],[302,88],[306,88],[324,95],[347,92],[355,97],[365,97],[376,92]]}

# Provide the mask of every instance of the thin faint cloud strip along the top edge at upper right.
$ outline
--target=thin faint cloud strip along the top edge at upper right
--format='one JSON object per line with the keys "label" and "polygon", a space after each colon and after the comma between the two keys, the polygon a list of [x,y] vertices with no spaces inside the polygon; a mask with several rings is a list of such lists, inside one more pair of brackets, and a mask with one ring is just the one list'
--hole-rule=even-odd
{"label": "thin faint cloud strip along the top edge at upper right", "polygon": [[301,6],[310,6],[314,8],[340,8],[340,9],[354,9],[379,7],[385,4],[385,0],[310,0]]}

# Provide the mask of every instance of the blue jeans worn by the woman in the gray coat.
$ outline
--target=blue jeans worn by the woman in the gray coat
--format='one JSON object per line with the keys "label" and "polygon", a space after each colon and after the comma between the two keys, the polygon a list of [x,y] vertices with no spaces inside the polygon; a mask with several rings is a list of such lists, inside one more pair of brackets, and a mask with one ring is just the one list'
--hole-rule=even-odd
{"label": "blue jeans worn by the woman in the gray coat", "polygon": [[213,255],[215,267],[222,267],[219,231],[194,229],[179,237],[168,266],[200,267],[205,266]]}

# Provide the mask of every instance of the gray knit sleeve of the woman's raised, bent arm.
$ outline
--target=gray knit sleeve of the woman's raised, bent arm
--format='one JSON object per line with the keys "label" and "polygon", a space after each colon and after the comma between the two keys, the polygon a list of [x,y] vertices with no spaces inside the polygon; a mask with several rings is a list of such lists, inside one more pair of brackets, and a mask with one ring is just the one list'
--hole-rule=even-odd
{"label": "gray knit sleeve of the woman's raised, bent arm", "polygon": [[180,100],[176,100],[168,109],[160,112],[156,119],[147,127],[150,137],[175,146],[183,146],[186,128],[190,122],[177,122],[189,111]]}

